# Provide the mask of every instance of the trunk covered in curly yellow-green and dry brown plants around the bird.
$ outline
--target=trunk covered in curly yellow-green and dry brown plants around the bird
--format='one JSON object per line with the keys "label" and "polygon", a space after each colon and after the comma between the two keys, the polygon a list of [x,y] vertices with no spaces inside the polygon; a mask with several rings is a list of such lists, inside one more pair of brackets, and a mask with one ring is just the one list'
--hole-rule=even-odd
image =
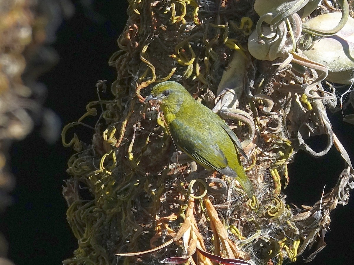
{"label": "trunk covered in curly yellow-green and dry brown plants around the bird", "polygon": [[[291,6],[296,1],[286,2]],[[336,107],[335,87],[321,85],[322,72],[328,70],[295,47],[301,45],[296,34],[304,34],[301,19],[274,4],[272,19],[278,18],[276,12],[283,17],[266,23],[273,25],[275,36],[284,34],[258,36],[256,43],[269,43],[269,54],[277,52],[257,60],[247,50],[259,19],[254,1],[129,3],[119,50],[109,60],[117,70],[110,100],[90,102],[87,113],[63,130],[64,145],[76,151],[68,162],[72,177],[63,195],[79,240],[74,257],[64,264],[116,264],[117,259],[118,264],[158,264],[162,259],[281,264],[295,261],[315,242],[312,259],[325,246],[329,213],[337,204],[347,204],[353,169],[327,118],[326,107]],[[301,8],[292,12],[301,13]],[[336,5],[313,10],[312,17],[333,12]],[[235,113],[225,121],[249,157],[241,161],[256,190],[252,199],[235,178],[213,173],[189,182],[190,164],[171,161],[179,150],[158,125],[158,109],[144,104],[152,86],[166,80],[183,84],[202,104],[216,105],[220,114],[224,107]],[[97,88],[105,92],[105,82]],[[86,125],[90,115],[96,122]],[[92,143],[80,142],[76,135],[65,140],[76,125],[95,129]],[[329,140],[316,153],[304,140],[318,134]],[[347,164],[337,185],[314,206],[291,206],[283,193],[289,182],[287,164],[300,148],[321,156],[333,143]],[[147,253],[135,253],[141,251]]]}

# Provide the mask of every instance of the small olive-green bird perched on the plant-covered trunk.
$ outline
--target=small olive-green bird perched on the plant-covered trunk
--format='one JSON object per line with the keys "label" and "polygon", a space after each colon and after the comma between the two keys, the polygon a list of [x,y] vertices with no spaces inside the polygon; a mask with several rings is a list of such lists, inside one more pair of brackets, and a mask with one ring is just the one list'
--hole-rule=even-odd
{"label": "small olive-green bird perched on the plant-covered trunk", "polygon": [[253,186],[242,167],[241,143],[218,114],[196,101],[181,84],[166,81],[153,87],[145,102],[155,101],[176,145],[206,169],[236,177],[252,198]]}

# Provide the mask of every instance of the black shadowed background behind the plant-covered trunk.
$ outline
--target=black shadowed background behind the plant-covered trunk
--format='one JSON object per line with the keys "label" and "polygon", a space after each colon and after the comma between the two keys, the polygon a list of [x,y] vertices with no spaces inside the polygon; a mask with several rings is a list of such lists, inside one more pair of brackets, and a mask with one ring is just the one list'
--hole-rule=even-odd
{"label": "black shadowed background behind the plant-covered trunk", "polygon": [[[98,17],[78,3],[74,1],[74,16],[64,21],[57,32],[53,46],[60,56],[59,63],[40,78],[48,88],[45,106],[61,117],[63,125],[77,120],[85,113],[86,104],[97,99],[98,80],[108,80],[108,88],[115,80],[115,69],[108,66],[108,59],[118,50],[116,40],[127,20],[126,1],[95,1],[93,9]],[[330,114],[330,119],[343,145],[353,146],[354,125],[343,123],[339,113]],[[83,131],[79,138],[90,142],[91,135]],[[318,137],[313,144],[318,141],[326,139]],[[353,148],[348,151],[353,158]],[[65,172],[67,161],[73,153],[60,140],[48,146],[39,128],[12,146],[11,167],[17,185],[12,192],[13,205],[1,215],[0,232],[9,242],[9,258],[15,264],[61,264],[77,248],[61,194],[63,180],[69,178]],[[289,165],[287,201],[298,207],[313,205],[325,184],[326,191],[335,185],[343,165],[335,148],[321,159],[300,151]],[[327,247],[310,265],[354,264],[353,217],[353,198],[348,206],[337,206],[325,238]]]}

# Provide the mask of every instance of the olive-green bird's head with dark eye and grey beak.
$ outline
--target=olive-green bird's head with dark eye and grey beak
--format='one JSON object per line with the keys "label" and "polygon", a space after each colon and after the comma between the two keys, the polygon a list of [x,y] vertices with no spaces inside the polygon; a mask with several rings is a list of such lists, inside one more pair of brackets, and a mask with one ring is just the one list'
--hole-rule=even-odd
{"label": "olive-green bird's head with dark eye and grey beak", "polygon": [[[187,89],[175,81],[165,81],[157,84],[151,90],[151,95],[145,99],[145,103],[152,101],[169,109],[178,108],[186,100],[193,99]],[[194,100],[194,99],[193,99]]]}

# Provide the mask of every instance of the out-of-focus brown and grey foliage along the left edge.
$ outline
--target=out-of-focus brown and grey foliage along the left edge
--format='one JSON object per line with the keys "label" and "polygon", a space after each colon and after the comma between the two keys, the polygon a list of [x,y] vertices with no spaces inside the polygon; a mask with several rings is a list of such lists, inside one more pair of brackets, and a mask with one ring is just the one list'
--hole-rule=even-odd
{"label": "out-of-focus brown and grey foliage along the left edge", "polygon": [[[50,45],[63,17],[73,11],[68,0],[0,1],[0,212],[12,204],[9,193],[15,188],[8,164],[11,143],[24,139],[35,124],[48,143],[58,139],[59,118],[42,106],[46,87],[36,80],[58,61]],[[0,235],[0,257],[6,255]]]}

